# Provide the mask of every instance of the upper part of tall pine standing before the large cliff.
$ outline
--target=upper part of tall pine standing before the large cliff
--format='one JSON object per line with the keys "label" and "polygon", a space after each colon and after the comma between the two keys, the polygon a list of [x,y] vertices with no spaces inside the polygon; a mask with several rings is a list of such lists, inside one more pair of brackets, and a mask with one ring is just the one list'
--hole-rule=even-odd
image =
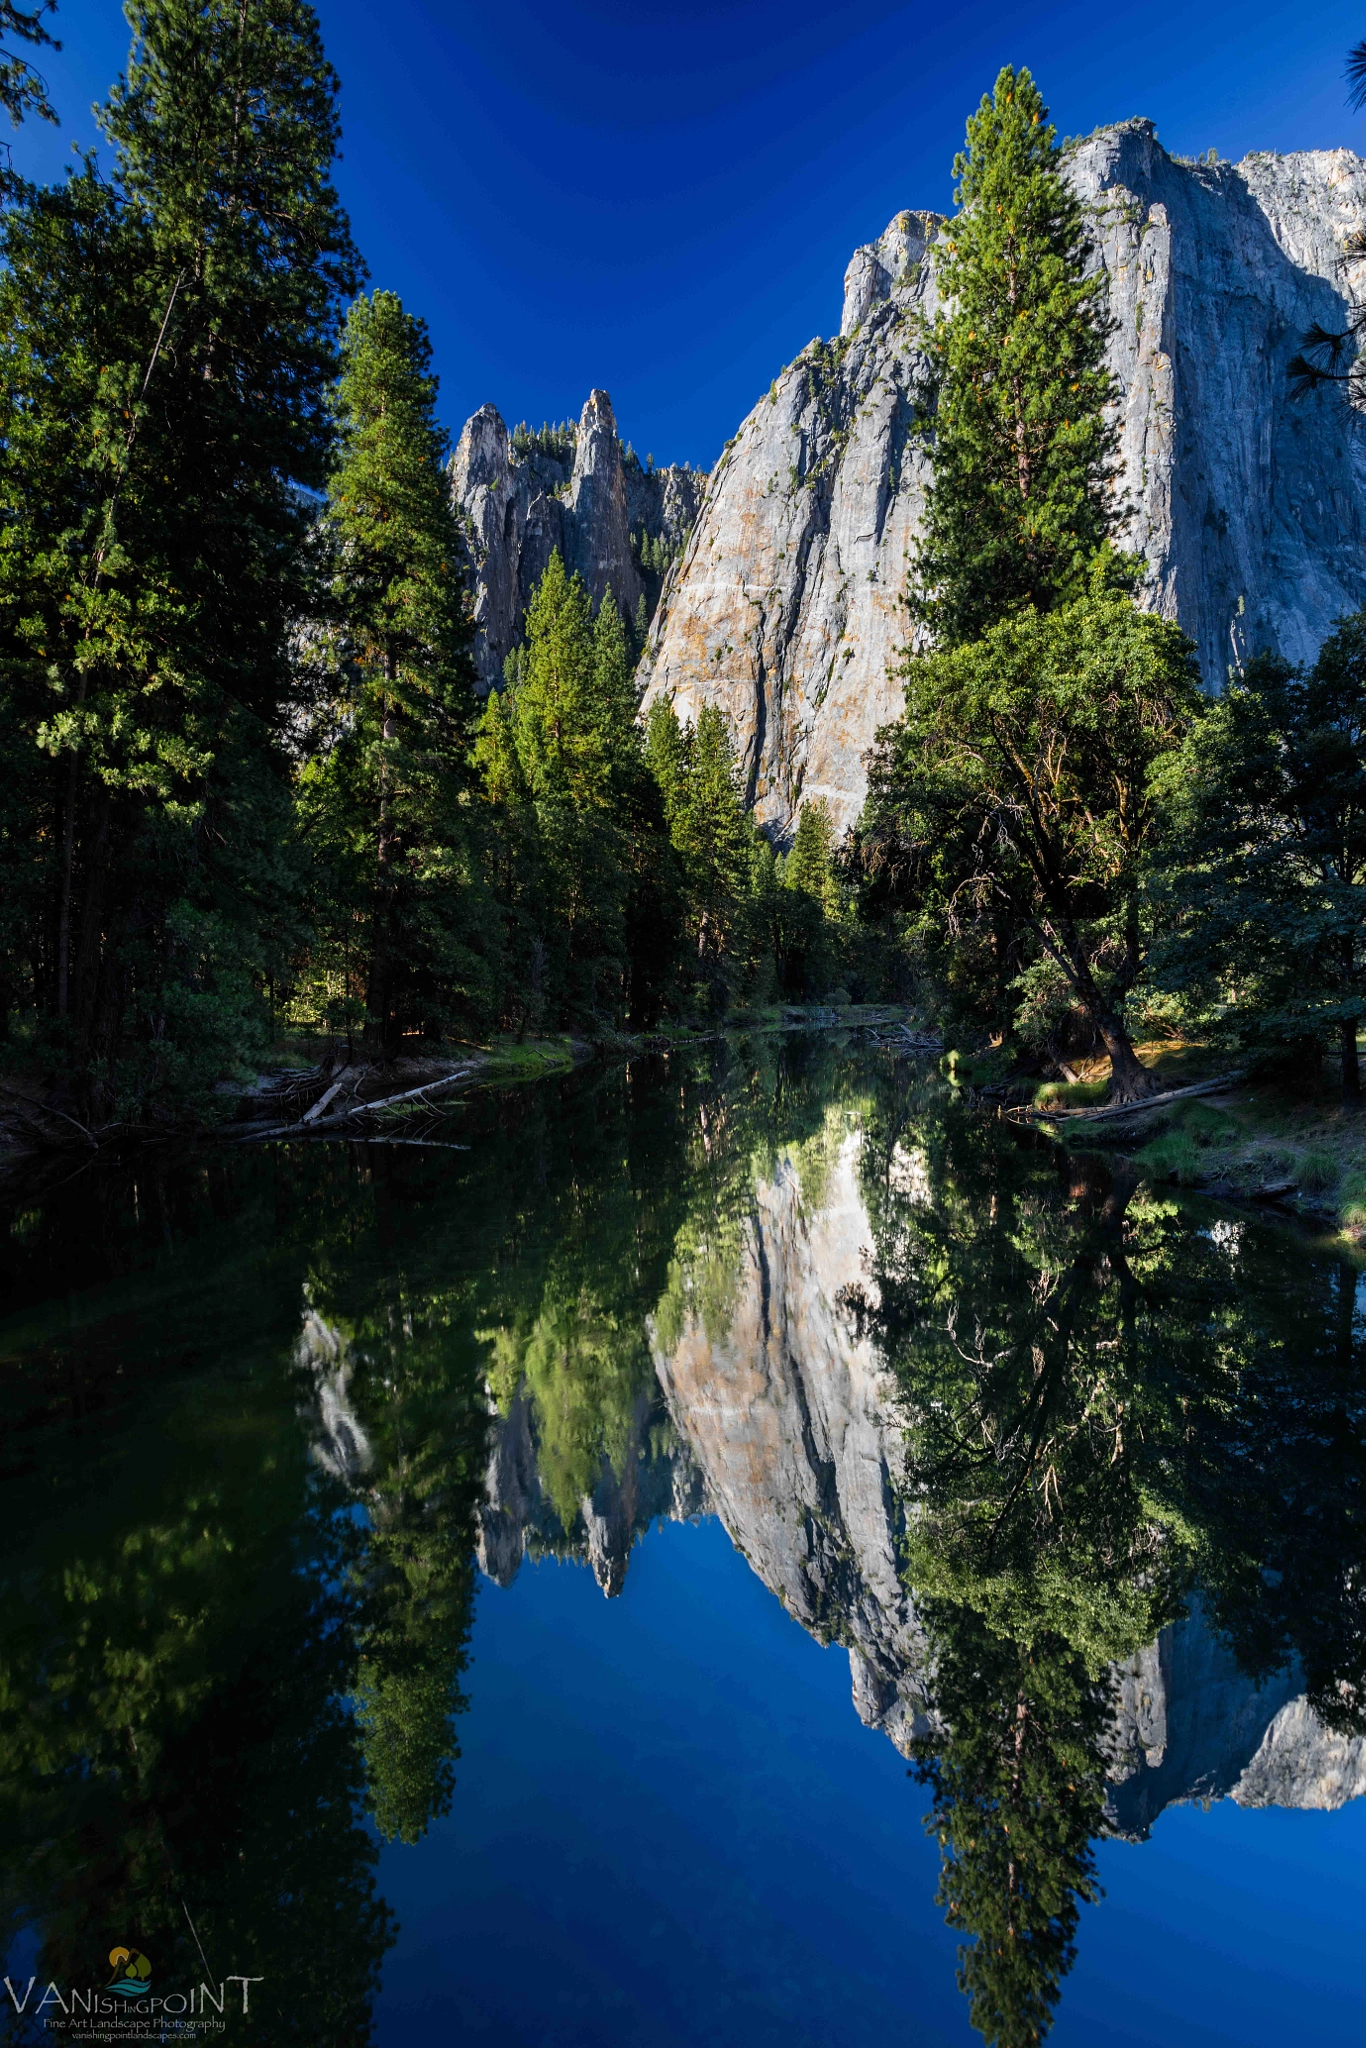
{"label": "upper part of tall pine standing before the large cliff", "polygon": [[1081,596],[1114,524],[1104,276],[1087,276],[1061,164],[1034,80],[1006,66],[967,125],[961,211],[938,244],[934,481],[911,610],[940,645]]}

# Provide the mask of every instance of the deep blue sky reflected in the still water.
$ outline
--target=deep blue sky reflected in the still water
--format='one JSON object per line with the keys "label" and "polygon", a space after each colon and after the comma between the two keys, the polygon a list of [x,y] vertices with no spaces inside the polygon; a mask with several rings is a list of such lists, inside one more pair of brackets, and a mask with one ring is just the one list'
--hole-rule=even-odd
{"label": "deep blue sky reflected in the still water", "polygon": [[[928,1804],[721,1526],[666,1524],[621,1599],[483,1585],[453,1812],[389,1849],[379,2048],[979,2042]],[[1102,1847],[1059,2048],[1366,2040],[1366,1802],[1169,1808]]]}

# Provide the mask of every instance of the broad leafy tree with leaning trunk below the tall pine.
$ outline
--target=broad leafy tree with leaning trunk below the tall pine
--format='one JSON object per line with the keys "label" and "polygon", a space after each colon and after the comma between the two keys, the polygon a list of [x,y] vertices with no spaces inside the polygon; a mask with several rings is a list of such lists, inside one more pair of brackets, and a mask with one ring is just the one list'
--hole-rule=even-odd
{"label": "broad leafy tree with leaning trunk below the tall pine", "polygon": [[1141,862],[1153,764],[1198,705],[1190,643],[1104,590],[1024,610],[905,662],[905,717],[879,737],[862,840],[897,874],[928,944],[1014,1026],[1012,983],[1049,961],[1145,1087],[1122,1004],[1145,954]]}

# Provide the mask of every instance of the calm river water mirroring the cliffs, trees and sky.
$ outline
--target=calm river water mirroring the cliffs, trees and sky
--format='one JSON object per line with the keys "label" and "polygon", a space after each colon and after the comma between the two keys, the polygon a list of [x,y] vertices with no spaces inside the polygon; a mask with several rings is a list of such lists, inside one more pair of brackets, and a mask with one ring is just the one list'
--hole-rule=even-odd
{"label": "calm river water mirroring the cliffs, trees and sky", "polygon": [[1366,2038],[1352,1264],[834,1038],[430,1137],[8,1202],[0,2040]]}

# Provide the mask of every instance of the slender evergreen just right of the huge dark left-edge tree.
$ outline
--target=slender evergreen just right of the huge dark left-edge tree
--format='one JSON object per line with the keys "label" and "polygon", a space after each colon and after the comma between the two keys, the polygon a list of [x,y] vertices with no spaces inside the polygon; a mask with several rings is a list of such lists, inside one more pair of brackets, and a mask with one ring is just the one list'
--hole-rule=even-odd
{"label": "slender evergreen just right of the huge dark left-edge tree", "polygon": [[[346,319],[340,455],[322,532],[334,563],[340,735],[305,770],[303,805],[332,850],[334,903],[352,924],[362,891],[365,1036],[375,1055],[393,1053],[405,1028],[440,1030],[487,1004],[463,801],[471,623],[434,408],[424,322],[389,291],[358,299]],[[356,856],[369,872],[356,870]]]}

